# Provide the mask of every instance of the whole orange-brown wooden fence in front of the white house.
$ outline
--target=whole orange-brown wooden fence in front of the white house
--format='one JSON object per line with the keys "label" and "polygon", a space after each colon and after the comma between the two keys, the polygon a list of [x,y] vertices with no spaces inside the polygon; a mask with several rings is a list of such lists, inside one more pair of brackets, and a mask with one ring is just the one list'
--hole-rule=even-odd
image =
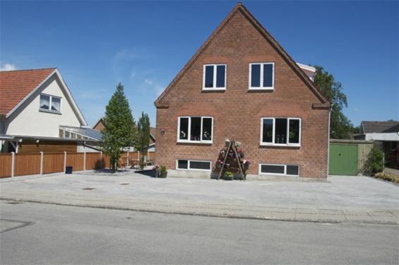
{"label": "whole orange-brown wooden fence in front of the white house", "polygon": [[[139,157],[138,152],[122,153],[119,164],[129,166]],[[155,153],[148,153],[146,160],[154,159]],[[102,153],[0,153],[0,178],[65,172],[69,166],[73,171],[109,168],[109,157]]]}

